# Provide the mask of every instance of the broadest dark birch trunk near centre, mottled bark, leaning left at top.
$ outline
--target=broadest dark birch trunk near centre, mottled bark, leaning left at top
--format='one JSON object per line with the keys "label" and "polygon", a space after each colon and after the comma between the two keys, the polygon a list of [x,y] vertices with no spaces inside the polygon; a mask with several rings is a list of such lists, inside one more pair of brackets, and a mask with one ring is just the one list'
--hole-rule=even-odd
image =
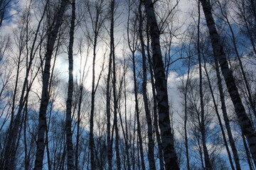
{"label": "broadest dark birch trunk near centre, mottled bark, leaning left at top", "polygon": [[176,152],[174,148],[174,135],[171,133],[171,122],[169,118],[169,102],[167,95],[166,75],[164,74],[164,63],[161,55],[159,42],[159,28],[154,13],[154,5],[151,0],[144,1],[147,20],[150,28],[151,47],[153,51],[153,68],[156,82],[156,99],[159,108],[159,127],[164,150],[164,161],[166,169],[179,169]]}

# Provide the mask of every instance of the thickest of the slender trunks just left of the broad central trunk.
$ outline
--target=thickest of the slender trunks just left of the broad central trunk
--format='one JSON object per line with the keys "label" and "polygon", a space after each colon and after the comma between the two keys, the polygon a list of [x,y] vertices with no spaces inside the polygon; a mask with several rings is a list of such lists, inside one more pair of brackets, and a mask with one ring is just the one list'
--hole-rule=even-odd
{"label": "thickest of the slender trunks just left of the broad central trunk", "polygon": [[147,123],[147,134],[149,138],[149,169],[154,170],[156,169],[155,161],[154,161],[154,140],[153,140],[153,127],[152,127],[152,120],[151,115],[149,112],[149,102],[148,97],[146,94],[146,53],[145,53],[145,45],[142,35],[142,24],[143,24],[143,16],[142,16],[142,1],[139,2],[139,39],[142,45],[142,69],[143,69],[143,83],[142,83],[142,93],[143,93],[143,100],[144,100],[144,109],[146,113],[146,123]]}

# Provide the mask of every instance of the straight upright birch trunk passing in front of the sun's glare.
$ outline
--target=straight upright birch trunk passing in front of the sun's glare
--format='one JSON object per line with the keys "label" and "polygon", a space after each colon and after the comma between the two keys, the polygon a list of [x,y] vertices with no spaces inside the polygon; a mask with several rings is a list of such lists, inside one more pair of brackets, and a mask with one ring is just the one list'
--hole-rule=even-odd
{"label": "straight upright birch trunk passing in front of the sun's glare", "polygon": [[68,45],[68,100],[66,108],[66,137],[67,137],[67,167],[74,169],[74,152],[73,152],[73,139],[72,139],[72,98],[73,98],[73,44],[75,32],[75,0],[72,1],[72,16],[70,26],[70,42]]}

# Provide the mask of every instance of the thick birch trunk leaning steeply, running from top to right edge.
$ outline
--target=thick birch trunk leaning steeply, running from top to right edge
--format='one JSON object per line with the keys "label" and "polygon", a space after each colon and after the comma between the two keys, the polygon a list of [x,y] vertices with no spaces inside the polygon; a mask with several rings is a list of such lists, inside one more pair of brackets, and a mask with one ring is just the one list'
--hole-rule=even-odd
{"label": "thick birch trunk leaning steeply, running from top to right edge", "polygon": [[239,123],[242,126],[242,132],[245,134],[247,138],[247,142],[250,147],[252,158],[256,164],[255,130],[252,128],[252,122],[250,121],[247,114],[245,113],[245,107],[242,105],[242,100],[238,93],[238,88],[235,85],[235,79],[233,77],[233,73],[228,67],[228,62],[225,57],[223,45],[221,45],[220,36],[218,35],[218,31],[215,27],[215,22],[213,19],[213,14],[211,12],[210,3],[206,0],[200,0],[200,1],[203,6],[203,12],[205,13],[205,16],[206,16],[206,23],[210,33],[210,39],[213,45],[213,51],[215,52],[215,57],[218,57],[218,62],[220,64],[220,68],[221,68],[223,77],[225,79],[225,83],[228,87],[228,92],[230,94],[231,100],[235,107],[235,113],[238,115]]}

